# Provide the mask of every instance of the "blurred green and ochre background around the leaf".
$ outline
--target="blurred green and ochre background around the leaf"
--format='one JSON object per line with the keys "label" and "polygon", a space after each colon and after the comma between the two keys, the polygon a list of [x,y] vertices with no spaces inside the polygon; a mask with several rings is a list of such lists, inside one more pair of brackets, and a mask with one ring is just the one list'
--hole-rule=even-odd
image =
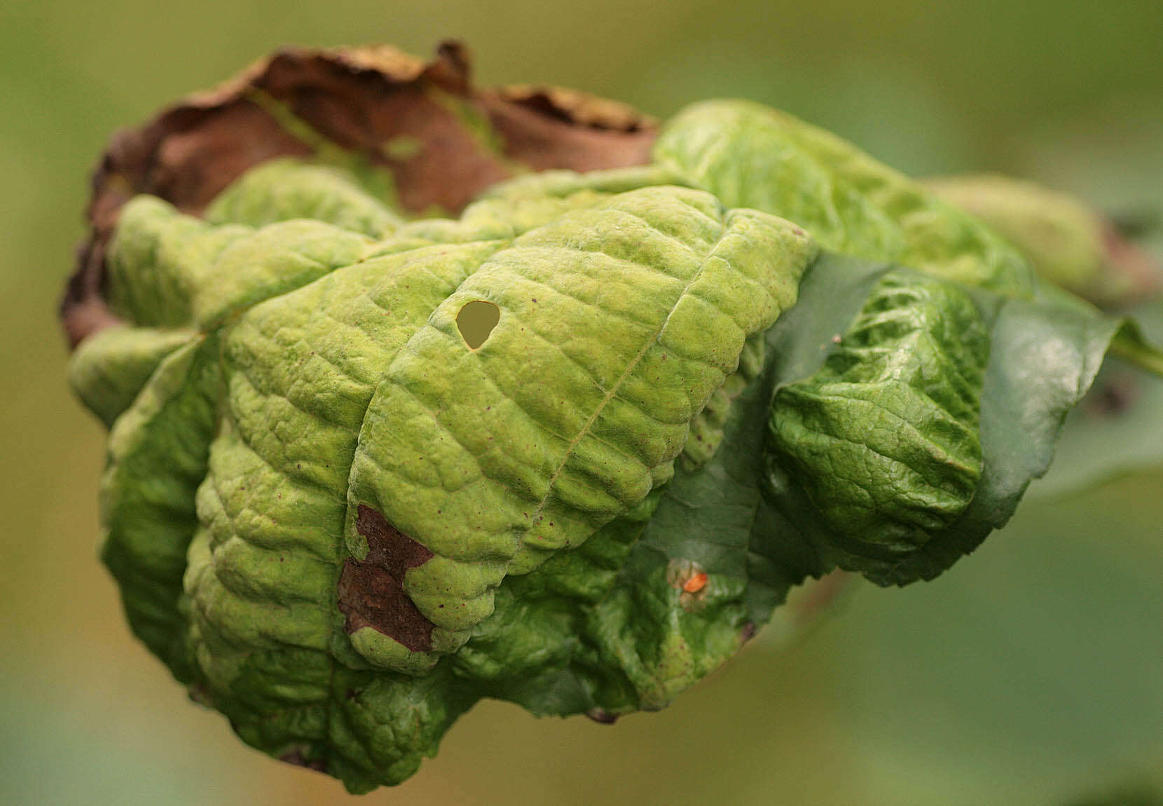
{"label": "blurred green and ochre background around the leaf", "polygon": [[[447,36],[483,84],[579,86],[659,116],[749,97],[913,173],[1001,170],[1163,209],[1156,2],[8,0],[0,803],[354,803],[247,749],[130,639],[94,557],[102,433],[65,387],[55,305],[116,127],[283,44],[428,55]],[[1161,490],[1144,470],[1032,497],[937,583],[857,585],[804,640],[752,642],[659,714],[607,727],[485,704],[364,800],[1066,805],[1139,786],[1163,765]]]}

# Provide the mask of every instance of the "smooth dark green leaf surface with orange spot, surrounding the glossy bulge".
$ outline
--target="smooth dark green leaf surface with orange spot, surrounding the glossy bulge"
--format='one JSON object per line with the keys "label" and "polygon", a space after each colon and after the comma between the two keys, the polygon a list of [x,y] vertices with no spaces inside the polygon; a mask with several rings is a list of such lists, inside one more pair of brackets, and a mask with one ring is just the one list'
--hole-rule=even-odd
{"label": "smooth dark green leaf surface with orange spot, surrounding the glossy bulge", "polygon": [[[807,578],[839,564],[879,584],[929,579],[1005,525],[1029,482],[1046,471],[1062,419],[1093,379],[1119,330],[1116,320],[954,286],[972,300],[1000,351],[991,351],[982,378],[982,476],[959,516],[905,558],[854,554],[851,541],[829,528],[801,487],[765,478],[765,419],[777,390],[819,371],[885,276],[907,283],[909,274],[921,285],[935,281],[835,255],[807,270],[799,302],[765,334],[763,369],[735,399],[719,449],[701,465],[679,466],[637,520],[620,519],[591,538],[597,545],[608,542],[607,533],[630,535],[620,543],[628,554],[609,593],[572,604],[563,604],[561,593],[538,601],[530,586],[554,579],[558,561],[580,559],[569,557],[573,552],[501,587],[497,616],[465,650],[476,651],[479,641],[518,648],[531,641],[556,647],[557,659],[538,673],[501,675],[505,683],[493,696],[536,713],[657,707],[729,658]],[[707,602],[713,606],[676,586],[668,576],[676,568],[707,573],[701,590],[714,595]],[[699,663],[684,663],[684,650]]]}

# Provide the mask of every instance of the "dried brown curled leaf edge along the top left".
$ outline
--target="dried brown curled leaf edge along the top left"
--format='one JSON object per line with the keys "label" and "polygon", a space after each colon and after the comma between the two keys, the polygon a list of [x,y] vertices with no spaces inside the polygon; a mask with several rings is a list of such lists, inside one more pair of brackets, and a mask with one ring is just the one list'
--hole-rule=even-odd
{"label": "dried brown curled leaf edge along the top left", "polygon": [[643,164],[656,133],[652,119],[583,92],[477,90],[456,41],[428,64],[390,45],[280,50],[113,136],[93,172],[90,235],[60,304],[65,335],[76,348],[119,323],[105,300],[105,254],[121,207],[140,193],[198,215],[249,167],[311,155],[312,138],[322,138],[386,167],[405,211],[458,213],[520,171]]}

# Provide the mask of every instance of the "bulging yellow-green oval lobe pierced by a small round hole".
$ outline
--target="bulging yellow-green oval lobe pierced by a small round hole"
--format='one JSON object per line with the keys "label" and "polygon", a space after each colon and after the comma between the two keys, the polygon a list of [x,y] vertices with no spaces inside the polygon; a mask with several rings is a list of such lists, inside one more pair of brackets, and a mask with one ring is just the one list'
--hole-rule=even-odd
{"label": "bulging yellow-green oval lobe pierced by a small round hole", "polygon": [[[409,597],[466,639],[506,573],[579,545],[670,477],[813,249],[787,222],[675,187],[599,197],[518,236],[387,368],[352,465],[352,554],[366,550],[358,506],[390,516],[436,555],[407,572]],[[500,320],[472,349],[456,320],[476,300]]]}

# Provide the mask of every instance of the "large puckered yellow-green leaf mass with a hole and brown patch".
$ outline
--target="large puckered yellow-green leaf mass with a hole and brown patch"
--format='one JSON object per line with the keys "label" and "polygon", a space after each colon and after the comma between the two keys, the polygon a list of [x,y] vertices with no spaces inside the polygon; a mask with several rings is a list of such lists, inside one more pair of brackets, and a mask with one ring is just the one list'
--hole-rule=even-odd
{"label": "large puckered yellow-green leaf mass with a hole and brown patch", "polygon": [[[248,742],[364,790],[411,775],[478,697],[661,707],[737,649],[745,612],[729,586],[694,592],[690,613],[665,568],[664,600],[613,586],[691,421],[726,378],[762,369],[752,337],[793,304],[815,248],[706,192],[618,181],[536,213],[495,200],[378,244],[314,221],[223,224],[238,237],[220,255],[173,262],[193,299],[181,321],[212,344],[199,355],[220,373],[202,390],[219,420],[197,431],[199,470],[183,466],[181,518],[158,544],[184,570],[157,589],[177,619],[158,652]],[[158,222],[147,231],[176,221],[215,237],[141,204]],[[149,264],[119,259],[135,299],[155,287]],[[457,316],[473,301],[499,319],[469,344]],[[144,551],[123,552],[123,584]],[[626,632],[676,602],[669,630]],[[431,718],[377,744],[369,720],[402,719],[405,702]],[[328,722],[336,708],[349,725]]]}

